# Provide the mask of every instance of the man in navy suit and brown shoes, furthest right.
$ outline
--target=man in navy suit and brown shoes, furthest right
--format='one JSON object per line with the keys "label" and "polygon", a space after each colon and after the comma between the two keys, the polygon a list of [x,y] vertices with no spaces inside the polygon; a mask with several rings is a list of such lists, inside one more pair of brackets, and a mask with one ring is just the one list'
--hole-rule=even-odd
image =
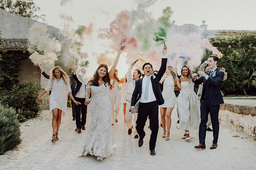
{"label": "man in navy suit and brown shoes, furthest right", "polygon": [[195,146],[197,149],[205,149],[205,136],[206,136],[206,123],[208,120],[208,114],[210,112],[212,120],[213,141],[210,149],[216,149],[219,137],[219,110],[220,104],[224,103],[220,85],[224,78],[224,72],[218,69],[217,63],[219,58],[216,55],[210,55],[208,57],[208,66],[210,71],[198,71],[201,76],[199,79],[196,75],[193,75],[193,81],[195,84],[203,84],[202,96],[201,96],[201,122],[199,125],[199,145]]}

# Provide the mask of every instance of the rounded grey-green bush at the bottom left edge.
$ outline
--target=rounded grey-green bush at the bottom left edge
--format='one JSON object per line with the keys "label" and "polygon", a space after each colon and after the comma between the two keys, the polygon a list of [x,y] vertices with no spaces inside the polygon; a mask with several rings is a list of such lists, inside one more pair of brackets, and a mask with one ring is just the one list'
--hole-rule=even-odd
{"label": "rounded grey-green bush at the bottom left edge", "polygon": [[15,110],[0,105],[0,155],[20,144],[20,134]]}

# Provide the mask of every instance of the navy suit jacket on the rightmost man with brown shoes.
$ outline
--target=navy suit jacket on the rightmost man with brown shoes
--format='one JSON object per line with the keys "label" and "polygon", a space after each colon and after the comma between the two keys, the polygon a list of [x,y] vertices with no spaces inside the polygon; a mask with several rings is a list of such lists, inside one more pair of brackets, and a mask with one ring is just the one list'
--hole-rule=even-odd
{"label": "navy suit jacket on the rightmost man with brown shoes", "polygon": [[201,83],[203,84],[203,90],[202,90],[202,96],[201,99],[206,97],[205,95],[209,96],[209,100],[212,105],[219,105],[224,103],[223,97],[220,92],[220,85],[224,78],[224,72],[218,69],[218,67],[215,69],[216,76],[210,77],[210,71],[206,71],[205,74],[209,76],[209,78],[206,80],[205,77],[201,76],[200,78],[193,80],[196,85],[199,85]]}

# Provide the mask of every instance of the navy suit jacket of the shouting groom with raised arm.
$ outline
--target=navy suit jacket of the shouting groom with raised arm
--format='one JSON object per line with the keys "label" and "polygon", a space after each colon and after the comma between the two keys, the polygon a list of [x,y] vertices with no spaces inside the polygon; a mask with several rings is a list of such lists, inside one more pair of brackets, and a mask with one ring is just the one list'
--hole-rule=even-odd
{"label": "navy suit jacket of the shouting groom with raised arm", "polygon": [[[160,67],[158,73],[154,74],[156,78],[153,78],[154,77],[153,75],[150,78],[152,88],[153,88],[153,92],[155,94],[156,101],[157,101],[158,105],[164,104],[164,98],[162,96],[159,81],[164,75],[164,72],[166,70],[166,64],[167,64],[167,58],[162,58],[161,67]],[[138,100],[140,100],[141,89],[142,89],[142,78],[135,81],[135,88],[134,88],[134,91],[132,93],[131,106],[135,106],[135,104],[138,102]]]}

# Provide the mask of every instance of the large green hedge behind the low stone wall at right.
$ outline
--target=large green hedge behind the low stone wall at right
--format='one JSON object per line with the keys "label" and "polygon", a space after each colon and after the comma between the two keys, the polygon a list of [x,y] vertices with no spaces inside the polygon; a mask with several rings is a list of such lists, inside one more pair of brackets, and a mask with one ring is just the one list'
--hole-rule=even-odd
{"label": "large green hedge behind the low stone wall at right", "polygon": [[[209,41],[223,54],[217,66],[226,68],[228,72],[227,80],[221,84],[221,91],[225,95],[256,95],[252,85],[256,65],[256,35],[217,36]],[[202,63],[211,54],[207,51]]]}

